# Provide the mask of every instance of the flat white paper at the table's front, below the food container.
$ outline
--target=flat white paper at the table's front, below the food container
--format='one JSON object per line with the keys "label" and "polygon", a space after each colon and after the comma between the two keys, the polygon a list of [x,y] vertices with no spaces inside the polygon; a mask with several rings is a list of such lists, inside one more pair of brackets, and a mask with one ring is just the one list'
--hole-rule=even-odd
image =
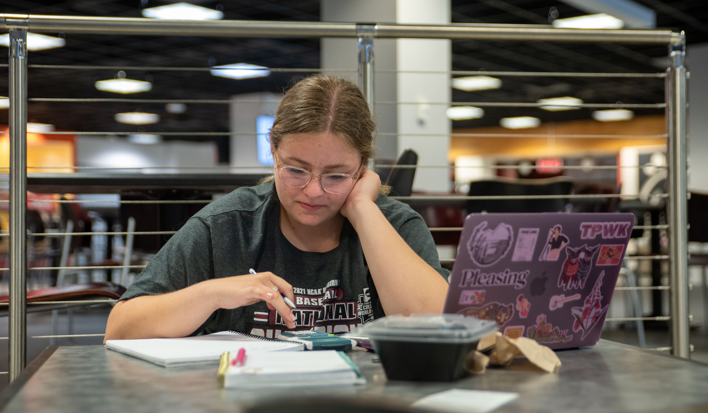
{"label": "flat white paper at the table's front, below the food container", "polygon": [[486,413],[519,397],[513,392],[450,389],[416,400],[411,407],[438,412]]}

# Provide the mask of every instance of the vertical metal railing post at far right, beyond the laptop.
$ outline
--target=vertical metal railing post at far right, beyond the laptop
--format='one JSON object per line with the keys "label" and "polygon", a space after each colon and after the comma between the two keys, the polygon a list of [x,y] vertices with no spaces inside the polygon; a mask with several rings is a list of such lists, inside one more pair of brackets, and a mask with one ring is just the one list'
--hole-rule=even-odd
{"label": "vertical metal railing post at far right, beyond the laptop", "polygon": [[[683,32],[681,33],[683,35]],[[690,358],[686,213],[686,54],[685,40],[669,45],[666,79],[668,128],[668,223],[670,249],[671,352]]]}

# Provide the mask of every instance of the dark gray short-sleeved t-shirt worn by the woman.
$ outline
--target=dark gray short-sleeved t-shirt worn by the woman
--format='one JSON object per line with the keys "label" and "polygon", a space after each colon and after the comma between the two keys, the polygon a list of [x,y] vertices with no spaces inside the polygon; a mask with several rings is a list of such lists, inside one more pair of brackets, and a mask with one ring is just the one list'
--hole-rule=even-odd
{"label": "dark gray short-sleeved t-shirt worn by the woman", "polygon": [[[416,254],[441,276],[433,237],[421,215],[383,195],[379,209]],[[181,290],[210,278],[270,271],[295,289],[296,329],[348,332],[384,311],[359,237],[345,219],[338,247],[301,251],[280,231],[280,202],[273,183],[238,188],[190,218],[142,271],[121,300]],[[234,330],[275,338],[287,329],[265,302],[219,309],[193,335]]]}

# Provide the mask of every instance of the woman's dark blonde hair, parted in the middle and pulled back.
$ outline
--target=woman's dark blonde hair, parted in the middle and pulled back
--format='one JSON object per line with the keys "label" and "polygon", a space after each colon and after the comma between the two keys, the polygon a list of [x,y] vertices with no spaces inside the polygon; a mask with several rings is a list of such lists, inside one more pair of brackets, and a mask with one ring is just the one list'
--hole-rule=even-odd
{"label": "woman's dark blonde hair, parted in the middle and pulled back", "polygon": [[[374,132],[369,105],[359,87],[347,79],[316,74],[297,82],[285,93],[270,128],[273,149],[287,135],[330,132],[357,152],[362,164],[374,156]],[[261,182],[273,179],[269,176]],[[382,185],[380,193],[388,193]]]}

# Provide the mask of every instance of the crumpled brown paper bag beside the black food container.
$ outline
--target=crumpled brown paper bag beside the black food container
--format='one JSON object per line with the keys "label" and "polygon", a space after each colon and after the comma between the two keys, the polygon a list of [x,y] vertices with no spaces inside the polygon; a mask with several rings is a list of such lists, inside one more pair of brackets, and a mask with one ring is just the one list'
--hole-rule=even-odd
{"label": "crumpled brown paper bag beside the black food container", "polygon": [[[488,349],[492,345],[495,348],[489,356],[485,356],[479,350]],[[561,361],[553,350],[547,346],[538,344],[528,337],[510,339],[500,332],[489,334],[479,341],[476,351],[470,351],[464,361],[464,369],[472,374],[481,374],[489,364],[496,366],[508,366],[511,361],[523,356],[538,368],[553,373],[561,366]]]}

